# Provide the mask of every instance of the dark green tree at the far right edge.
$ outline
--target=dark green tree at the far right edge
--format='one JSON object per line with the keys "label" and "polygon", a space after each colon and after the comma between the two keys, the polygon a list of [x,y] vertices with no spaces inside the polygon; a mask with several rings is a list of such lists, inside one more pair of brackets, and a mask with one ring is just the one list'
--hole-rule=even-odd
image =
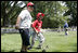
{"label": "dark green tree at the far right edge", "polygon": [[70,15],[70,26],[77,26],[77,1],[65,1],[68,11],[64,14],[65,16]]}

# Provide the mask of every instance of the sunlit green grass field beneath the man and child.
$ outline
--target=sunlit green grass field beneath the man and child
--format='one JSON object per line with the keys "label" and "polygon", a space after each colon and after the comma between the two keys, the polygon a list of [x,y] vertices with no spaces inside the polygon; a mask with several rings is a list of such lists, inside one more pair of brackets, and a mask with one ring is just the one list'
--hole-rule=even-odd
{"label": "sunlit green grass field beneath the man and child", "polygon": [[[46,37],[46,42],[49,49],[47,52],[77,52],[77,31],[69,31],[68,36],[64,35],[64,31],[47,31],[43,32]],[[1,52],[20,52],[22,45],[22,40],[20,34],[4,34],[1,35]],[[36,41],[34,49],[28,50],[28,52],[41,52],[41,50],[36,49],[38,41]]]}

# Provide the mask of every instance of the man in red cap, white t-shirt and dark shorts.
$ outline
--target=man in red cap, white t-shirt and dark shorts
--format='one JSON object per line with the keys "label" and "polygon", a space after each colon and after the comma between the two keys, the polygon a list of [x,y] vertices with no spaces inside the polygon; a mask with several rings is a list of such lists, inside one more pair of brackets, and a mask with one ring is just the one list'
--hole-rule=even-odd
{"label": "man in red cap, white t-shirt and dark shorts", "polygon": [[27,9],[23,10],[16,21],[15,28],[20,30],[21,37],[22,37],[22,50],[21,52],[27,52],[28,45],[30,45],[29,42],[29,28],[31,25],[31,15],[30,12],[34,11],[34,3],[29,2],[27,3]]}

